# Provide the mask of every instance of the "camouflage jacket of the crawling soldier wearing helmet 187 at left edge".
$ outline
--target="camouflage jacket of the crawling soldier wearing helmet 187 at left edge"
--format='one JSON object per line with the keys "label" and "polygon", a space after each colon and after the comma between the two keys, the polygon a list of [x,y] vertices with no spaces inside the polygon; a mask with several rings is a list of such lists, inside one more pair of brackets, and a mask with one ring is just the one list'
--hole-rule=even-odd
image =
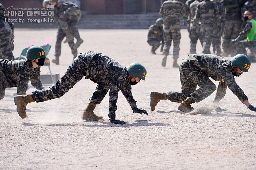
{"label": "camouflage jacket of the crawling soldier wearing helmet 187 at left edge", "polygon": [[17,87],[17,95],[26,95],[28,81],[36,89],[42,89],[40,81],[40,67],[33,68],[30,60],[1,60],[0,73],[3,77],[2,87]]}

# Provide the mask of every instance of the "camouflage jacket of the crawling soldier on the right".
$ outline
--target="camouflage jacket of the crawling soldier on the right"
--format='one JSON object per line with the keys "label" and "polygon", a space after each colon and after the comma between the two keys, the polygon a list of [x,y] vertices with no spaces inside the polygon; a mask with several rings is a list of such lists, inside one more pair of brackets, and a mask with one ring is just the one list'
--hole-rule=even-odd
{"label": "camouflage jacket of the crawling soldier on the right", "polygon": [[189,54],[183,62],[191,69],[199,70],[207,77],[220,81],[214,101],[219,101],[225,96],[227,87],[241,102],[248,100],[243,90],[236,84],[230,60],[211,54]]}

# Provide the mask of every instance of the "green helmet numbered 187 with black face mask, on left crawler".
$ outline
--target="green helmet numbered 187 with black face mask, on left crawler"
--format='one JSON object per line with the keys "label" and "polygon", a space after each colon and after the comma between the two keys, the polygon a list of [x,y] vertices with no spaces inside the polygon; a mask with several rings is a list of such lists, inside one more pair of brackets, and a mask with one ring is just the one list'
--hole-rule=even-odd
{"label": "green helmet numbered 187 with black face mask, on left crawler", "polygon": [[38,66],[43,66],[44,65],[44,58],[46,58],[45,55],[45,51],[42,47],[39,46],[32,46],[28,48],[26,57],[28,58],[28,60],[34,60],[34,59],[38,59],[38,62],[36,62],[36,64]]}

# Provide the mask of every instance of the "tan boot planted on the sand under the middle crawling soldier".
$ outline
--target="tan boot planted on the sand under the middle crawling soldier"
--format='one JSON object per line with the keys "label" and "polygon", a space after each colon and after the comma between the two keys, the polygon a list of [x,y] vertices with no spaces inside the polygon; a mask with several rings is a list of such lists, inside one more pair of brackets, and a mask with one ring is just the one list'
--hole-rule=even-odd
{"label": "tan boot planted on the sand under the middle crawling soldier", "polygon": [[95,109],[97,104],[94,103],[88,103],[86,109],[84,110],[81,119],[82,120],[87,120],[87,121],[98,121],[102,119],[102,116],[97,116],[94,114],[93,110]]}

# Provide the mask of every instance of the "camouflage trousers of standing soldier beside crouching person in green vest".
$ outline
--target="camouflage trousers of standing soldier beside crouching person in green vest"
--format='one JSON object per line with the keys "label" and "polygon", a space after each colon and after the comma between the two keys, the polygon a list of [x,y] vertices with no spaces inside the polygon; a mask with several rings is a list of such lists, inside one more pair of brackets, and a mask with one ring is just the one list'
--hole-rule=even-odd
{"label": "camouflage trousers of standing soldier beside crouching person in green vest", "polygon": [[242,21],[240,20],[226,20],[225,25],[223,28],[223,35],[222,35],[222,48],[227,49],[228,53],[232,51],[231,47],[231,39],[236,39],[236,37],[241,32],[241,24]]}

